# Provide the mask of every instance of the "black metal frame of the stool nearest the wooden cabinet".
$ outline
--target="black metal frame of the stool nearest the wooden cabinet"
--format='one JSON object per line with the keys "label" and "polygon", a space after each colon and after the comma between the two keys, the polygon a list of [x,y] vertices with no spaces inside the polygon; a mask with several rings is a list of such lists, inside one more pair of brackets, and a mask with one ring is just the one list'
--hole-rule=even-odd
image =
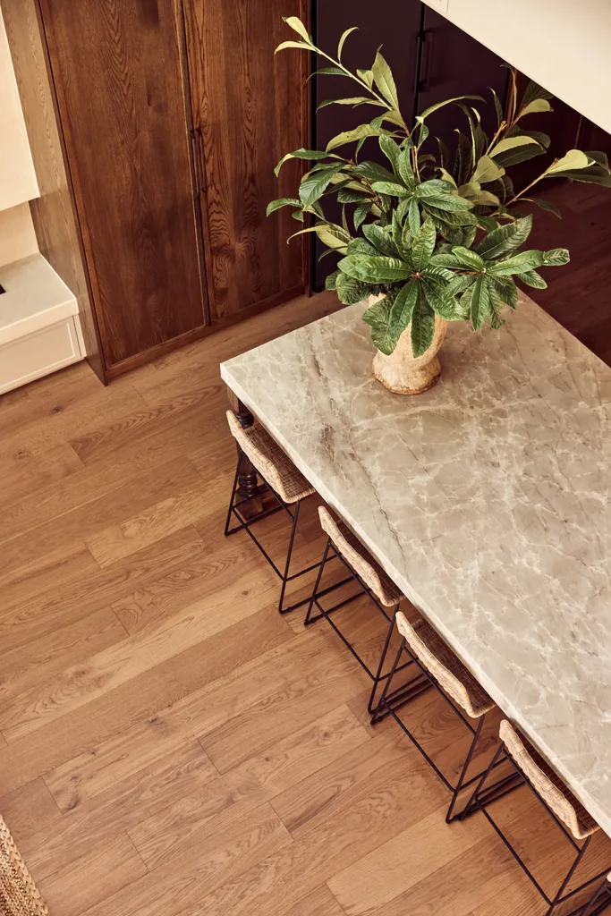
{"label": "black metal frame of the stool nearest the wooden cabinet", "polygon": [[[239,445],[237,447],[237,453],[238,455],[237,455],[237,465],[235,468],[234,485],[231,491],[231,499],[229,501],[229,509],[227,511],[227,519],[225,521],[224,535],[225,537],[229,537],[229,535],[235,534],[237,531],[245,530],[246,534],[256,544],[256,547],[263,554],[263,556],[265,557],[265,559],[267,560],[267,562],[273,569],[274,573],[276,573],[276,575],[278,576],[278,579],[280,579],[282,583],[282,587],[280,589],[280,598],[278,601],[278,612],[280,614],[289,614],[290,611],[294,611],[298,607],[301,607],[302,605],[307,604],[307,602],[310,601],[310,597],[303,598],[301,601],[296,602],[294,605],[289,605],[289,607],[284,607],[284,595],[285,595],[288,583],[292,582],[294,579],[299,579],[301,575],[305,575],[306,573],[311,573],[312,570],[317,569],[319,565],[318,563],[313,563],[311,566],[308,566],[307,568],[300,570],[299,573],[292,573],[289,575],[290,559],[291,559],[292,552],[293,552],[293,544],[295,541],[295,534],[297,531],[297,523],[300,517],[301,500],[298,499],[296,501],[296,503],[294,504],[295,510],[291,511],[289,503],[285,503],[285,501],[282,499],[281,496],[278,495],[278,493],[274,490],[274,488],[267,483],[267,480],[265,479],[263,474],[261,474],[259,471],[256,471],[256,474],[259,480],[262,481],[262,483],[256,487],[256,490],[249,493],[248,496],[245,496],[242,499],[238,499],[236,502],[235,494],[238,490],[240,469],[242,466],[242,461],[245,457]],[[260,512],[258,513],[258,515],[254,516],[253,518],[245,518],[241,514],[240,507],[245,506],[246,503],[251,503],[253,499],[256,499],[258,496],[265,496],[267,493],[270,493],[271,496],[274,497],[274,499],[278,503],[278,506],[275,506],[272,509],[267,509],[266,512]],[[290,504],[290,505],[293,505],[293,504]],[[278,569],[278,566],[269,556],[269,554],[267,553],[261,541],[257,540],[255,535],[251,531],[251,528],[254,525],[256,525],[256,522],[261,521],[263,518],[268,518],[269,516],[275,515],[277,512],[281,512],[282,510],[284,510],[287,513],[287,515],[289,516],[289,518],[291,519],[289,547],[287,550],[287,559],[286,559],[285,566],[284,566],[284,572]],[[232,519],[234,517],[237,518],[238,524],[235,525],[234,528],[230,528]]]}

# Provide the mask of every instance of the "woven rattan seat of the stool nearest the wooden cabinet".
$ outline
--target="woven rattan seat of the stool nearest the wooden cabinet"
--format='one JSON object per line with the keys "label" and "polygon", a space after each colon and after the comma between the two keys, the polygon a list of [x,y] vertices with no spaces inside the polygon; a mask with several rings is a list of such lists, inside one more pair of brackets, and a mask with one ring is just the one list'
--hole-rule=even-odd
{"label": "woven rattan seat of the stool nearest the wooden cabinet", "polygon": [[315,492],[278,442],[259,423],[244,429],[232,410],[227,410],[227,420],[232,435],[246,457],[285,503],[296,503]]}

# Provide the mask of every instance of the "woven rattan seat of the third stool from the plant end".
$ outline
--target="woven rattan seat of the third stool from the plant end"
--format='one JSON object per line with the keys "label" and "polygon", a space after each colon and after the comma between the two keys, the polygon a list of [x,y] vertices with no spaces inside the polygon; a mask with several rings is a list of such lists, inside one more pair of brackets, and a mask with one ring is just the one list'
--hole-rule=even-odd
{"label": "woven rattan seat of the third stool from the plant end", "polygon": [[467,715],[479,719],[494,709],[494,701],[426,620],[417,620],[412,625],[398,611],[397,628],[425,668]]}

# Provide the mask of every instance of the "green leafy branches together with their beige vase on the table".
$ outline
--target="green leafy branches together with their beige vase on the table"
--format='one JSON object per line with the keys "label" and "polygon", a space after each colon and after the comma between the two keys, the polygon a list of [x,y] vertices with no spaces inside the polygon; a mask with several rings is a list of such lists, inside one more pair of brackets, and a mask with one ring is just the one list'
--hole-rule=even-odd
{"label": "green leafy branches together with their beige vase on the table", "polygon": [[[529,114],[551,111],[551,94],[538,84],[531,82],[518,104],[516,73],[511,71],[507,112],[491,91],[497,120],[492,137],[486,136],[473,104],[484,100],[473,95],[432,105],[409,127],[392,72],[379,50],[370,70],[352,72],[342,63],[344,42],[354,28],[344,31],[333,58],[314,45],[299,18],[285,21],[299,38],[282,42],[277,52],[314,52],[331,64],[318,73],[357,84],[354,96],[322,105],[374,106],[377,113],[373,120],[334,136],[326,149],[287,153],[278,163],[277,175],[289,158],[313,165],[300,180],[298,196],[269,203],[267,215],[279,207],[293,207],[295,219],[311,222],[295,235],[316,233],[328,249],[325,254],[342,256],[327,278],[327,289],[335,289],[345,305],[369,300],[363,320],[370,325],[377,349],[375,376],[391,391],[420,393],[440,374],[437,352],[447,322],[470,321],[475,331],[486,323],[499,328],[503,307],[515,309],[518,304],[516,280],[543,289],[546,282],[539,268],[568,262],[566,248],[523,249],[532,217],[518,213],[519,202],[560,215],[553,203],[531,196],[535,185],[543,179],[567,178],[611,187],[606,155],[570,149],[516,191],[507,169],[543,155],[550,145],[548,136],[528,129]],[[457,131],[454,155],[441,140],[436,155],[428,147],[423,151],[429,136],[427,118],[448,104],[458,107],[467,128],[465,133]],[[359,159],[366,138],[372,136],[378,138],[385,165]],[[349,146],[354,147],[351,155],[345,153]],[[341,224],[324,215],[322,202],[329,194],[342,204]]]}

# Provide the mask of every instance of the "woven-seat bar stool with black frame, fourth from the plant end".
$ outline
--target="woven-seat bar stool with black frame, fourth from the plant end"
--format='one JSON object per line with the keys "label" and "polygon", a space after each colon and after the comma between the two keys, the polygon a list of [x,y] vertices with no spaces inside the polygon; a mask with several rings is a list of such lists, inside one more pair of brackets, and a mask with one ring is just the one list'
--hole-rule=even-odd
{"label": "woven-seat bar stool with black frame, fourth from the plant end", "polygon": [[[518,862],[519,867],[528,875],[531,882],[539,890],[543,900],[548,904],[549,910],[546,912],[546,916],[552,916],[557,907],[560,907],[575,894],[587,888],[588,885],[593,884],[595,881],[599,881],[600,878],[603,878],[608,872],[609,866],[607,865],[600,874],[595,875],[594,878],[589,878],[587,881],[584,881],[583,884],[579,885],[579,887],[567,892],[567,887],[571,878],[573,878],[576,868],[583,861],[592,837],[600,830],[600,827],[595,822],[594,818],[584,809],[581,802],[578,802],[573,793],[564,785],[558,774],[551,769],[547,761],[541,757],[539,751],[530,744],[528,738],[521,732],[518,733],[517,729],[507,722],[507,719],[501,722],[499,735],[501,744],[496,751],[496,755],[491,761],[490,767],[486,770],[486,773],[484,773],[479,784],[476,786],[475,792],[462,816],[463,818],[467,817],[474,811],[481,811],[485,814],[486,819],[492,824],[496,834],[500,836],[503,843],[507,846],[511,855]],[[493,820],[492,815],[488,811],[488,806],[495,800],[486,800],[482,798],[481,792],[486,784],[486,779],[493,765],[501,758],[505,758],[509,761],[519,779],[518,785],[524,784],[529,787],[529,790],[551,815],[551,818],[558,827],[560,827],[562,833],[566,836],[571,845],[573,845],[573,849],[576,852],[576,856],[573,859],[573,865],[569,868],[566,877],[562,880],[560,888],[553,897],[549,897],[541,888],[540,883],[533,876],[529,867],[518,855],[518,852],[511,845],[507,836],[503,834],[498,824]],[[603,896],[604,893],[608,893],[608,885],[603,885],[602,888],[597,890],[595,897],[587,904],[587,908],[582,902],[577,909],[571,910],[570,913],[563,911],[562,916],[576,916],[577,913],[579,913],[580,916],[585,916],[585,913],[588,913],[588,916],[593,916],[594,913],[602,912],[609,902],[609,900],[605,900]]]}

